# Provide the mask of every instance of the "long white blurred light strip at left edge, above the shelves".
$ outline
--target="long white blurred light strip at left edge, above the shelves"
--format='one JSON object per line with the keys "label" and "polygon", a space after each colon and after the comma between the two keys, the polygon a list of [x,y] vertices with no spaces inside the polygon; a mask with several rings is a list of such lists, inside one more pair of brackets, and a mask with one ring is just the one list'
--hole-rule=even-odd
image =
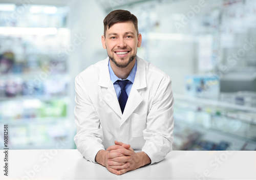
{"label": "long white blurred light strip at left edge, above the shelves", "polygon": [[53,35],[57,32],[56,28],[0,27],[0,35]]}

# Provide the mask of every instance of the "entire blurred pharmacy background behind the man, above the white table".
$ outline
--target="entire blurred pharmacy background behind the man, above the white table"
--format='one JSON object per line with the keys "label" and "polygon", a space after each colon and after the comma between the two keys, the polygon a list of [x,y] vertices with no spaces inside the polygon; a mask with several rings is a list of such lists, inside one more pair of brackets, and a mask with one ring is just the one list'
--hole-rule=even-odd
{"label": "entire blurred pharmacy background behind the man, above the white table", "polygon": [[115,9],[137,16],[138,56],[172,79],[173,149],[256,150],[255,0],[0,0],[9,148],[76,148],[74,79],[107,57],[103,19]]}

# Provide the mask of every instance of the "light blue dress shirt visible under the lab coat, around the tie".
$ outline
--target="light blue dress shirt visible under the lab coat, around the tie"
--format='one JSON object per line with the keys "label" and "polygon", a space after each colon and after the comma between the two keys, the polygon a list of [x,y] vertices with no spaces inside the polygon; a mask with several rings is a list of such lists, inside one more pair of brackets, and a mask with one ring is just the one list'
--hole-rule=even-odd
{"label": "light blue dress shirt visible under the lab coat, around the tie", "polygon": [[125,86],[125,91],[126,91],[128,97],[129,97],[131,89],[132,89],[132,85],[133,85],[133,82],[134,82],[134,79],[135,79],[136,71],[137,71],[137,61],[136,61],[136,59],[135,59],[135,64],[133,66],[133,69],[132,69],[131,73],[129,74],[129,76],[126,79],[118,78],[115,75],[114,71],[111,68],[110,60],[109,60],[109,71],[110,71],[110,79],[113,82],[114,87],[115,87],[117,99],[119,99],[119,96],[120,96],[120,93],[121,93],[121,88],[120,88],[117,80],[121,80],[121,81],[126,80],[126,79],[129,80],[129,82]]}

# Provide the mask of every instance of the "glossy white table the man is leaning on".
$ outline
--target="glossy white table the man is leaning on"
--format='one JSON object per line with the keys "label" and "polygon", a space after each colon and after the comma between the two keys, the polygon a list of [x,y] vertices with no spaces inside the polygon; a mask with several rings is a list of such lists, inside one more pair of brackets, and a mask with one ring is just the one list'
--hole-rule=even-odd
{"label": "glossy white table the man is leaning on", "polygon": [[86,161],[77,150],[9,150],[0,179],[256,179],[256,151],[172,151],[157,164],[123,175]]}

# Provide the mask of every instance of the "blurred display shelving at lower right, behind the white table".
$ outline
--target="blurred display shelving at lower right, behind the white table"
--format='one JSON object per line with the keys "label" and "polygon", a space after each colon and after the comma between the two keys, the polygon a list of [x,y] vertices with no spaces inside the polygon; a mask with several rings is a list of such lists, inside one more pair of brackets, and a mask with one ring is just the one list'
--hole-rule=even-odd
{"label": "blurred display shelving at lower right, behind the white table", "polygon": [[255,107],[178,94],[174,98],[174,149],[256,150]]}

